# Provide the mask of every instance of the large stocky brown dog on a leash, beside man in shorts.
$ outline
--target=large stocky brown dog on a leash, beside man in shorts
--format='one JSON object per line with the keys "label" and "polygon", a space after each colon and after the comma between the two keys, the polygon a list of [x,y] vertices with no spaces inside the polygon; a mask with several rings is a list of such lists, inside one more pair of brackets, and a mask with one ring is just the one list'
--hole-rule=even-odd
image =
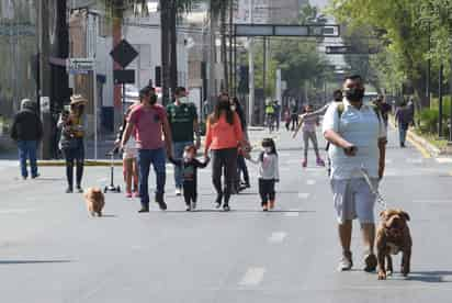
{"label": "large stocky brown dog on a leash, beside man in shorts", "polygon": [[[409,215],[402,210],[386,210],[380,214],[381,224],[376,231],[376,249],[378,254],[378,280],[386,280],[393,273],[391,255],[402,251],[400,272],[407,277],[410,270],[411,235],[407,225]],[[385,259],[387,267],[385,267]]]}

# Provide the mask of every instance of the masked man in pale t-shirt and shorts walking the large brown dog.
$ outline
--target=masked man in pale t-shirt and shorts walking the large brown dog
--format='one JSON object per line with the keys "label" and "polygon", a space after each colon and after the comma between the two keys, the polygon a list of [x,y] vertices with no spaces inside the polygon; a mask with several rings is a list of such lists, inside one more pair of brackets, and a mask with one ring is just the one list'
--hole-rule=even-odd
{"label": "masked man in pale t-shirt and shorts walking the large brown dog", "polygon": [[331,189],[337,212],[342,259],[339,270],[353,266],[350,251],[352,220],[359,218],[365,246],[365,271],[374,271],[375,195],[361,172],[368,171],[376,189],[385,167],[386,127],[378,111],[363,104],[364,85],[360,76],[346,78],[343,101],[332,103],[325,116],[323,132],[331,144]]}

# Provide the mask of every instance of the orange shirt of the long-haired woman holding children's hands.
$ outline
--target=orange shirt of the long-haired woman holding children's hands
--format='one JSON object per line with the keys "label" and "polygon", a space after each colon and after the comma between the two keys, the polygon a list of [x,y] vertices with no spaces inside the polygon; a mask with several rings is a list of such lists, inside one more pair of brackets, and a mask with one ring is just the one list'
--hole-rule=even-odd
{"label": "orange shirt of the long-haired woman holding children's hands", "polygon": [[236,148],[242,139],[244,133],[237,113],[234,113],[233,125],[227,123],[225,114],[214,124],[211,124],[210,120],[207,120],[206,149]]}

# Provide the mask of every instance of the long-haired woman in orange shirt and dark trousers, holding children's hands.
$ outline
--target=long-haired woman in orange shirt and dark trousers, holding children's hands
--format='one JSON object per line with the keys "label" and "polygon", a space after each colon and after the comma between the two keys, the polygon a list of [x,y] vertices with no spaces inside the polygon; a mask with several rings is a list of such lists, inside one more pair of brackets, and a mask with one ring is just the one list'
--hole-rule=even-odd
{"label": "long-haired woman in orange shirt and dark trousers, holding children's hands", "polygon": [[[238,114],[233,111],[229,96],[222,93],[214,113],[207,119],[205,157],[212,152],[212,181],[216,190],[215,206],[229,211],[229,199],[237,173],[237,148],[244,145],[244,133]],[[225,189],[222,187],[224,170]],[[224,201],[223,201],[224,200]]]}

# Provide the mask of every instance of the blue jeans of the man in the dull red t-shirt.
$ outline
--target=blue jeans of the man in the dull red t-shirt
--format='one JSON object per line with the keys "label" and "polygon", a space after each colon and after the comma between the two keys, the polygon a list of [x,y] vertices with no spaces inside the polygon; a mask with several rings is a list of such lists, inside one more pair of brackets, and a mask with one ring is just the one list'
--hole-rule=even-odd
{"label": "blue jeans of the man in the dull red t-shirt", "polygon": [[157,177],[156,194],[165,193],[165,182],[167,179],[166,154],[163,148],[158,149],[138,149],[138,169],[139,169],[139,197],[143,206],[149,206],[149,170],[150,165]]}

